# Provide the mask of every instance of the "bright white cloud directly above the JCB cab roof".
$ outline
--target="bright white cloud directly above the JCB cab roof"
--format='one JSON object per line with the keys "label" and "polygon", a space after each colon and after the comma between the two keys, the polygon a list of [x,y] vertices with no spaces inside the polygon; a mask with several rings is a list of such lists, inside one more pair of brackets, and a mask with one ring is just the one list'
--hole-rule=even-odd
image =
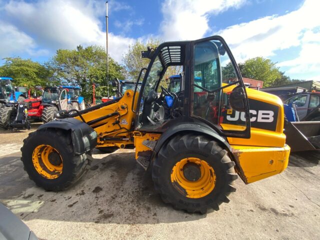
{"label": "bright white cloud directly above the JCB cab roof", "polygon": [[210,30],[209,14],[230,7],[238,8],[245,0],[165,0],[161,11],[160,35],[164,40],[192,40]]}

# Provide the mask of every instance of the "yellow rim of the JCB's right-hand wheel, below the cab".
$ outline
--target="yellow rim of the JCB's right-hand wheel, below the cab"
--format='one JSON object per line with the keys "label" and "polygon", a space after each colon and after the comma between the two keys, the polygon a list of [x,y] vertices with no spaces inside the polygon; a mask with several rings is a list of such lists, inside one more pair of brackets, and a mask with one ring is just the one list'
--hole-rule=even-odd
{"label": "yellow rim of the JCB's right-hand wheel, below the cab", "polygon": [[196,157],[183,158],[172,167],[173,186],[189,198],[209,194],[215,186],[215,180],[215,172],[210,164]]}

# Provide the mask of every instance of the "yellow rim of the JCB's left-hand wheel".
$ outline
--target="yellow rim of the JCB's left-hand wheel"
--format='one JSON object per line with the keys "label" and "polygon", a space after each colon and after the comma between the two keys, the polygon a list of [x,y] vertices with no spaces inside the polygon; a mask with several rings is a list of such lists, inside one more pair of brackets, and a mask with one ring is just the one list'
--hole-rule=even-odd
{"label": "yellow rim of the JCB's left-hand wheel", "polygon": [[62,157],[50,145],[38,145],[32,152],[32,163],[35,170],[47,179],[55,179],[62,173]]}

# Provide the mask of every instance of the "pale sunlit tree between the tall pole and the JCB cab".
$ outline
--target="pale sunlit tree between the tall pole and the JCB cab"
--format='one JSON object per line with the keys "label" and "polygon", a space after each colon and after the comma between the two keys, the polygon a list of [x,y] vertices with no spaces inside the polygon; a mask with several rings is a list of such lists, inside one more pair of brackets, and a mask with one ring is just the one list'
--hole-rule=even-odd
{"label": "pale sunlit tree between the tall pole and the JCB cab", "polygon": [[147,67],[150,59],[142,58],[141,51],[145,51],[148,46],[157,47],[159,40],[148,39],[146,43],[137,40],[134,44],[129,45],[128,51],[123,56],[123,63],[128,71],[127,78],[136,81],[141,68]]}

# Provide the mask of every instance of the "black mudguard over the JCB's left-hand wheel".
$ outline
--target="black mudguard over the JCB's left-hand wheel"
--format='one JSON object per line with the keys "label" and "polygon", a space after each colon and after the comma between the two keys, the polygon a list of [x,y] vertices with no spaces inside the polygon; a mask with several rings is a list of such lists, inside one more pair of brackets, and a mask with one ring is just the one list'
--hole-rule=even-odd
{"label": "black mudguard over the JCB's left-hand wheel", "polygon": [[75,118],[57,119],[39,126],[38,130],[58,128],[70,131],[74,154],[80,155],[93,149],[97,134],[88,124]]}

